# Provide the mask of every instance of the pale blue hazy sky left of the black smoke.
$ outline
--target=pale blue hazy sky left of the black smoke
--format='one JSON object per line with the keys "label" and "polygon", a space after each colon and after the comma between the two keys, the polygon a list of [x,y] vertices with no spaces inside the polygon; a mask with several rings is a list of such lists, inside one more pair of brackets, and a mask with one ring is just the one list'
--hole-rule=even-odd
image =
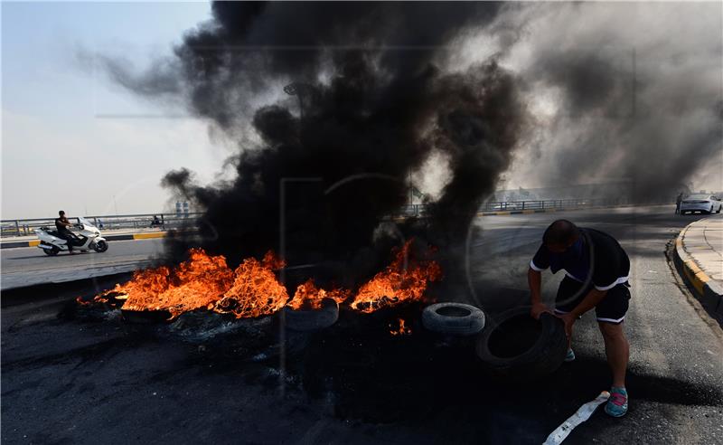
{"label": "pale blue hazy sky left of the black smoke", "polygon": [[137,117],[164,109],[78,57],[119,56],[140,69],[209,17],[208,3],[3,2],[2,218],[155,213],[167,208],[158,183],[169,169],[211,180],[229,152],[203,122]]}

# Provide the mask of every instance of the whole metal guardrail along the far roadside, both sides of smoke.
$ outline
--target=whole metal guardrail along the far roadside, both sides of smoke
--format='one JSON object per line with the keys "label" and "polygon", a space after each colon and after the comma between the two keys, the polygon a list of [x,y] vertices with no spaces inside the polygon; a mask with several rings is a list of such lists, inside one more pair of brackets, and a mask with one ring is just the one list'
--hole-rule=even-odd
{"label": "whole metal guardrail along the far roadside, both sides of smoke", "polygon": [[[529,200],[529,201],[491,201],[480,204],[479,212],[510,212],[522,210],[546,210],[546,209],[565,209],[572,207],[600,207],[606,205],[623,205],[630,204],[624,198],[594,198],[594,199],[552,199],[552,200]],[[400,209],[400,215],[420,216],[427,213],[426,204],[408,204]],[[187,213],[178,215],[176,213],[143,213],[143,214],[121,214],[121,215],[92,215],[84,216],[84,218],[92,221],[96,227],[102,230],[118,230],[118,229],[146,229],[151,228],[153,217],[157,216],[161,220],[158,227],[160,229],[169,230],[182,227],[184,223],[189,223],[203,213]],[[54,227],[55,218],[34,218],[22,220],[2,220],[0,227],[3,238],[12,236],[33,235],[34,230],[42,227]],[[70,218],[76,220],[76,218]],[[102,226],[101,226],[102,223]]]}

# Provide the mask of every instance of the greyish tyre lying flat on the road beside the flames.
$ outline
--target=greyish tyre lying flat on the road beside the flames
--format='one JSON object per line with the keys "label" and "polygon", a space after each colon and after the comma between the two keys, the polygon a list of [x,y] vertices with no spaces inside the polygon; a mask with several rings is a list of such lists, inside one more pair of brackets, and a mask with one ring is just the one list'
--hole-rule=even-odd
{"label": "greyish tyre lying flat on the road beside the flames", "polygon": [[437,303],[422,312],[422,324],[430,331],[471,336],[484,327],[484,312],[462,303]]}

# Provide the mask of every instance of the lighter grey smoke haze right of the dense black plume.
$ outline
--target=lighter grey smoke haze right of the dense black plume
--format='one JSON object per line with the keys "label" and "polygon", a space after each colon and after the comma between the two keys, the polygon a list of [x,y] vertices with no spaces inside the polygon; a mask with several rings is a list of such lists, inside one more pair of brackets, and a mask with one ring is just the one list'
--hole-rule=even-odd
{"label": "lighter grey smoke haze right of the dense black plume", "polygon": [[722,8],[537,4],[498,17],[522,36],[501,63],[526,80],[537,120],[512,184],[616,183],[598,190],[637,202],[723,189]]}

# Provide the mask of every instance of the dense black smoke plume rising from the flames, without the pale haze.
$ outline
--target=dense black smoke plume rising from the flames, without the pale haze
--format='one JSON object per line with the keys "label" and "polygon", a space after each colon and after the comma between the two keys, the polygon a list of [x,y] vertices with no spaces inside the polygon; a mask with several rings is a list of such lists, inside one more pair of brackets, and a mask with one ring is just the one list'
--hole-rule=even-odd
{"label": "dense black smoke plume rising from the flames, without the pale haze", "polygon": [[[205,211],[202,247],[231,262],[268,249],[283,249],[292,265],[339,261],[353,265],[353,280],[386,260],[388,245],[383,256],[369,246],[384,232],[380,221],[408,202],[408,175],[431,153],[450,161],[446,186],[427,223],[391,232],[398,238],[464,241],[479,202],[510,165],[526,119],[519,80],[493,57],[454,73],[438,65],[461,33],[500,9],[214,3],[213,19],[154,67],[164,79],[174,74],[173,89],[153,72],[107,67],[143,95],[181,94],[195,115],[239,141],[230,183],[196,185],[185,169],[164,178]],[[254,105],[264,97],[272,99]],[[171,251],[196,242],[174,239]]]}

